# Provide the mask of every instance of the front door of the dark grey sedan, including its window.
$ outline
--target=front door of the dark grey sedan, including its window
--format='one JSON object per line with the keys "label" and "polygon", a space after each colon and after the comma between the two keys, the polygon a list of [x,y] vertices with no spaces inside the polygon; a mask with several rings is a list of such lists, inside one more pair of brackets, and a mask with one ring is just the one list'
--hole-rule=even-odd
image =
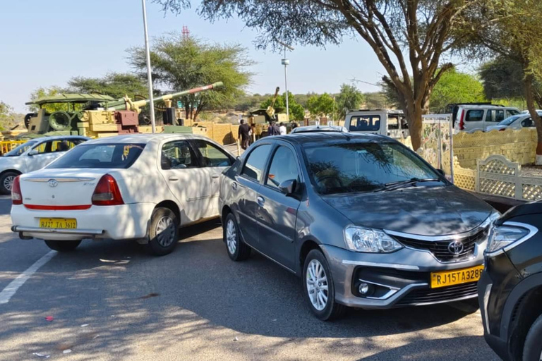
{"label": "front door of the dark grey sedan, including its window", "polygon": [[300,183],[299,161],[293,147],[280,144],[272,154],[263,185],[258,191],[258,243],[265,255],[294,269],[295,235],[299,199],[285,195],[279,185],[284,181]]}

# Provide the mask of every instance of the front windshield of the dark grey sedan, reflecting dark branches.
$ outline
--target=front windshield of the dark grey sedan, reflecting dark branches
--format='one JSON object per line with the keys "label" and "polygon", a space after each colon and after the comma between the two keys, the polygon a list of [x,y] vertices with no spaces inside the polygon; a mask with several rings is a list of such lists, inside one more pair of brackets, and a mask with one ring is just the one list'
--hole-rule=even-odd
{"label": "front windshield of the dark grey sedan, reflecting dark branches", "polygon": [[393,143],[349,142],[306,147],[305,154],[311,182],[325,195],[373,192],[413,178],[440,179],[409,149]]}

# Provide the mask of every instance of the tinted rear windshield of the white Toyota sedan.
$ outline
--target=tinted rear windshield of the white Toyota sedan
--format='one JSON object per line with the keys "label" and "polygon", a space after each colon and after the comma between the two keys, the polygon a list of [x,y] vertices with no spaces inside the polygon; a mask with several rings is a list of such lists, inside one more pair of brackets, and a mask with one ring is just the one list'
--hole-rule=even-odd
{"label": "tinted rear windshield of the white Toyota sedan", "polygon": [[46,168],[127,169],[138,159],[143,148],[145,144],[133,143],[78,145]]}

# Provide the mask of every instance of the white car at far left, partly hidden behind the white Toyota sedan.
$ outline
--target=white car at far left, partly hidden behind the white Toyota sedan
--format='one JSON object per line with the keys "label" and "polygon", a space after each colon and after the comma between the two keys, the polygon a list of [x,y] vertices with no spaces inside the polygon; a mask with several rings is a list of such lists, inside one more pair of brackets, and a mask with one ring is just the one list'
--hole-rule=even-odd
{"label": "white car at far left, partly hidden behind the white Toyota sedan", "polygon": [[19,174],[42,169],[69,149],[89,139],[80,135],[55,135],[28,140],[11,149],[4,157],[0,157],[0,193],[10,194],[13,179]]}

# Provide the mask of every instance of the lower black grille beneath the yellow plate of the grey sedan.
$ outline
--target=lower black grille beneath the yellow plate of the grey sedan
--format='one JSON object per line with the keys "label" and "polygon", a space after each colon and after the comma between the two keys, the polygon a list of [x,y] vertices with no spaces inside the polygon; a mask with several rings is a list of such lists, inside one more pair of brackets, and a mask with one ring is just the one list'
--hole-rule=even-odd
{"label": "lower black grille beneath the yellow plate of the grey sedan", "polygon": [[476,282],[442,288],[423,288],[407,293],[395,305],[411,306],[423,303],[446,302],[476,295],[477,293]]}

